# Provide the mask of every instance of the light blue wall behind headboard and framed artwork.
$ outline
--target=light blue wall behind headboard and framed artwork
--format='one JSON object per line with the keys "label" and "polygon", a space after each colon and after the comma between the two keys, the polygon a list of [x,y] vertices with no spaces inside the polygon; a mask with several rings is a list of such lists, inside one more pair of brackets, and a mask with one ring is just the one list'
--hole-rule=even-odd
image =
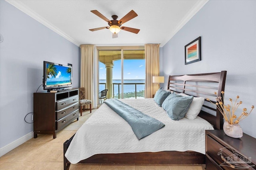
{"label": "light blue wall behind headboard and framed artwork", "polygon": [[[242,108],[256,106],[256,1],[210,0],[162,48],[162,72],[168,75],[227,70],[225,103],[240,96]],[[185,65],[184,46],[201,36],[202,61]],[[167,88],[167,87],[165,87]],[[240,125],[256,137],[256,109]]]}

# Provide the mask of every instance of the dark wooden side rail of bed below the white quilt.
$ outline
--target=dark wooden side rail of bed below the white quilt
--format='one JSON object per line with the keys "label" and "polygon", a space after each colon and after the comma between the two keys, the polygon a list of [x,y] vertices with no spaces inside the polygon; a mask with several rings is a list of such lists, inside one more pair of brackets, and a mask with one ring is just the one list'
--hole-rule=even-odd
{"label": "dark wooden side rail of bed below the white quilt", "polygon": [[205,164],[205,154],[194,151],[161,151],[96,154],[79,163],[90,164]]}

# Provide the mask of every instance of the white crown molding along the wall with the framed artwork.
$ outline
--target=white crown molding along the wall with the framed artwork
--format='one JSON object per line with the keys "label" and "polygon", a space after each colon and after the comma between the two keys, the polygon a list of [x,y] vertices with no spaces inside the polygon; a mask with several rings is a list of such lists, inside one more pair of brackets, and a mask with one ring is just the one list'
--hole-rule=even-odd
{"label": "white crown molding along the wall with the framed artwork", "polygon": [[190,10],[190,12],[180,21],[176,29],[170,34],[170,38],[160,44],[163,47],[172,37],[180,31],[180,29],[208,2],[209,0],[200,0],[195,4],[195,6]]}

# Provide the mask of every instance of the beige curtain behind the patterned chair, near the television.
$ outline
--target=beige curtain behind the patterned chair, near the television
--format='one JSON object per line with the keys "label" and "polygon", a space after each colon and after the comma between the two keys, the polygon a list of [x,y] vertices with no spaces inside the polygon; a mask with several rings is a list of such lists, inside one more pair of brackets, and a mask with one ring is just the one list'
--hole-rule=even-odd
{"label": "beige curtain behind the patterned chair, near the television", "polygon": [[[80,87],[85,88],[85,99],[93,100],[93,50],[94,45],[82,44],[81,49],[81,77]],[[89,106],[86,106],[88,108]]]}

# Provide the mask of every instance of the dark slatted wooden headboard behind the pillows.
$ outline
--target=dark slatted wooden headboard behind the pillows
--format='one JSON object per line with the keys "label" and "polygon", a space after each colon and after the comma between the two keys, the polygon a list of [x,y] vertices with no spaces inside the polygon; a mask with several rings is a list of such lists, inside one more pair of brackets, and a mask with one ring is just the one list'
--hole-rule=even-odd
{"label": "dark slatted wooden headboard behind the pillows", "polygon": [[222,96],[221,91],[224,91],[225,89],[226,74],[227,71],[221,71],[204,74],[169,76],[168,89],[195,97],[204,97],[204,105],[198,116],[211,123],[214,126],[214,129],[223,129],[222,114],[216,109],[216,106],[208,102],[206,98],[209,98],[215,103],[216,95],[214,92],[217,92],[218,96]]}

